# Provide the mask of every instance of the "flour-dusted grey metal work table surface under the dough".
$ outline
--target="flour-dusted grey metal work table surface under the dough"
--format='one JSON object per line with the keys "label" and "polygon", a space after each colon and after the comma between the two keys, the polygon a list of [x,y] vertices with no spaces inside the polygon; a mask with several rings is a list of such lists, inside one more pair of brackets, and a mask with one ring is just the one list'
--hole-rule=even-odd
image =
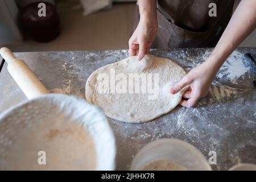
{"label": "flour-dusted grey metal work table surface under the dough", "polygon": [[[212,48],[152,49],[151,53],[174,59],[187,71],[201,64]],[[206,98],[194,108],[176,109],[154,121],[132,124],[109,118],[117,143],[116,169],[129,169],[137,152],[151,140],[178,138],[191,143],[209,158],[216,151],[214,170],[229,169],[238,163],[256,163],[256,75],[245,53],[256,48],[238,48],[221,67]],[[55,93],[85,95],[89,75],[106,64],[128,56],[127,50],[23,52],[15,53]],[[7,72],[0,73],[0,113],[27,100]],[[143,109],[143,108],[142,108]]]}

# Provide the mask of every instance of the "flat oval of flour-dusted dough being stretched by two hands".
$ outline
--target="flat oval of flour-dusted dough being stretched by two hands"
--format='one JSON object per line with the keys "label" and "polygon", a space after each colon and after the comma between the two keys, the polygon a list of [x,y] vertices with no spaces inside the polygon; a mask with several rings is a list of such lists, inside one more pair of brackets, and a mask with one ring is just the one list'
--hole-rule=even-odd
{"label": "flat oval of flour-dusted dough being stretched by two hands", "polygon": [[94,71],[86,82],[85,97],[110,118],[143,123],[179,104],[187,87],[176,94],[171,94],[170,88],[185,74],[169,59],[146,55],[138,61],[137,56],[127,57]]}

